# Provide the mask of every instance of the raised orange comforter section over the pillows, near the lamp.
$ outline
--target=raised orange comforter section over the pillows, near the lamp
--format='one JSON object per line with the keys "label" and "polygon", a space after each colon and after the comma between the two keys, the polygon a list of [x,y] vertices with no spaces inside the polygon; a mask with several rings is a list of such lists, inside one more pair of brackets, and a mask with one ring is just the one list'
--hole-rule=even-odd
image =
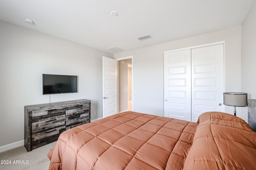
{"label": "raised orange comforter section over the pillows, near the lamp", "polygon": [[184,170],[256,170],[256,132],[244,120],[206,112],[198,122]]}

